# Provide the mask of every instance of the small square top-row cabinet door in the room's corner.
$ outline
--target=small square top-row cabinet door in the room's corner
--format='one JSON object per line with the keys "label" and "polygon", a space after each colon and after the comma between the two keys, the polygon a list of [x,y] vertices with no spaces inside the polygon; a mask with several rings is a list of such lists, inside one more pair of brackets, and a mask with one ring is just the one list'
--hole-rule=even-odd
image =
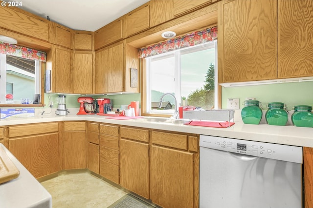
{"label": "small square top-row cabinet door in the room's corner", "polygon": [[75,50],[92,50],[92,32],[75,31],[74,49]]}

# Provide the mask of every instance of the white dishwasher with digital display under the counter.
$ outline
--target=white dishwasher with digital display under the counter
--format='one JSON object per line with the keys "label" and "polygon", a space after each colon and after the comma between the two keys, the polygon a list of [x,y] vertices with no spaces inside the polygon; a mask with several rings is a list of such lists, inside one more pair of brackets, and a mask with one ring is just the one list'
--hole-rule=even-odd
{"label": "white dishwasher with digital display under the counter", "polygon": [[302,208],[302,147],[200,136],[200,208]]}

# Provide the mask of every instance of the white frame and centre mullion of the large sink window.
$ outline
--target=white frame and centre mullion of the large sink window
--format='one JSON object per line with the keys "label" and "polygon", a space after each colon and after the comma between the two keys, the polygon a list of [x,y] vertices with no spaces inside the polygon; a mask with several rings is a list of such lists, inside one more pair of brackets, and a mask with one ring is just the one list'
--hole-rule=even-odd
{"label": "white frame and centre mullion of the large sink window", "polygon": [[[206,42],[206,43],[199,44],[199,45],[195,45],[195,46],[185,47],[182,49],[168,52],[166,54],[169,54],[169,53],[171,53],[171,54],[174,54],[174,53],[185,54],[184,51],[187,51],[187,50],[190,51],[190,50],[192,50],[192,48],[203,47],[202,45],[210,44],[210,43],[214,44],[213,47],[215,48],[215,92],[216,92],[215,93],[215,109],[220,109],[221,108],[221,87],[218,85],[218,57],[217,57],[218,46],[217,46],[217,40],[213,40],[213,41]],[[196,52],[199,50],[195,49],[194,51]],[[154,58],[162,57],[162,56],[164,56],[164,54],[156,55],[156,56],[154,56]],[[149,87],[147,87],[147,83],[149,83],[149,81],[150,81],[149,79],[147,79],[147,75],[149,75],[149,73],[150,73],[150,72],[148,72],[147,67],[146,67],[147,62],[149,63],[149,61],[147,61],[146,58],[140,59],[141,77],[142,77],[142,80],[141,80],[141,115],[170,117],[172,114],[165,114],[165,112],[168,110],[164,110],[164,113],[156,113],[156,112],[149,113],[147,111],[147,108],[149,106],[151,107],[151,104],[149,105],[147,103],[147,96],[148,96],[147,93],[150,92],[150,90],[151,90]],[[175,67],[180,68],[180,59],[175,60]],[[177,70],[175,70],[175,73],[177,73]],[[175,77],[180,79],[180,70],[178,70],[178,74],[175,75]],[[179,80],[179,83],[180,83],[180,80]],[[177,92],[179,92],[179,95],[175,94],[175,97],[177,99],[177,105],[178,105],[177,110],[178,110],[178,107],[180,104],[180,97],[178,98],[178,96],[180,96],[180,87],[179,87],[179,89],[176,89],[176,93]],[[151,100],[149,102],[151,103]],[[174,110],[171,110],[170,112],[174,112]],[[168,111],[168,113],[170,113],[170,112]]]}

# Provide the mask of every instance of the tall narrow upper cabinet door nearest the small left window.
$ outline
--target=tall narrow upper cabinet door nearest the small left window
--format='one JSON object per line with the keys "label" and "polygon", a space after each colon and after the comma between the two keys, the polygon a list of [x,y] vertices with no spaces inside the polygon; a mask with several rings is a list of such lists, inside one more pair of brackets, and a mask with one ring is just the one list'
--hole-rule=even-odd
{"label": "tall narrow upper cabinet door nearest the small left window", "polygon": [[71,50],[62,47],[55,48],[55,66],[52,70],[55,93],[71,93],[71,56]]}

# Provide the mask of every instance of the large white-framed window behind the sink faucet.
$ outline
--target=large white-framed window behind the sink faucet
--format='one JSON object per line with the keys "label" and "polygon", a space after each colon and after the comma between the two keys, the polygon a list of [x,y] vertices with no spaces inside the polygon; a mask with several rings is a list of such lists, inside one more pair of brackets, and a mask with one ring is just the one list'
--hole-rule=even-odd
{"label": "large white-framed window behind the sink faucet", "polygon": [[[146,57],[145,113],[173,114],[178,106],[211,109],[217,102],[217,40]],[[178,107],[177,107],[178,108]]]}

